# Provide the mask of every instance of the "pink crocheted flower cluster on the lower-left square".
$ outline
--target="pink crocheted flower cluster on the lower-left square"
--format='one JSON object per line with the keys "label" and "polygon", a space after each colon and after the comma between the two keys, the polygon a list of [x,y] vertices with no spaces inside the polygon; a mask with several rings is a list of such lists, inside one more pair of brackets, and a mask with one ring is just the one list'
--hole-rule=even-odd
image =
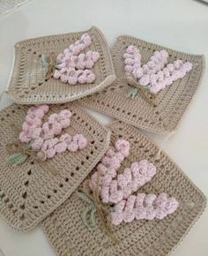
{"label": "pink crocheted flower cluster on the lower-left square", "polygon": [[53,158],[56,153],[63,153],[68,150],[76,152],[87,145],[87,140],[82,134],[71,136],[64,133],[60,138],[63,129],[71,124],[71,111],[63,109],[59,114],[52,114],[42,124],[42,118],[48,112],[48,105],[37,105],[28,109],[26,121],[22,125],[22,132],[19,134],[21,142],[31,142],[31,148],[40,150],[37,154],[41,158]]}

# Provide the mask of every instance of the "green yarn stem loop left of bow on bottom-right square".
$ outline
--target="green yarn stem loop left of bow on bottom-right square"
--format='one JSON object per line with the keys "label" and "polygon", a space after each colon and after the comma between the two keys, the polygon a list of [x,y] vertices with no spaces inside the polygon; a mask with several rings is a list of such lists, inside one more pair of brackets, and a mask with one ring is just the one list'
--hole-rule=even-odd
{"label": "green yarn stem loop left of bow on bottom-right square", "polygon": [[[77,192],[78,198],[84,200],[88,206],[85,208],[85,211],[82,213],[82,222],[84,223],[87,229],[90,229],[96,225],[95,213],[96,207],[92,200],[88,199],[84,192]],[[90,220],[88,220],[88,215],[90,215]]]}

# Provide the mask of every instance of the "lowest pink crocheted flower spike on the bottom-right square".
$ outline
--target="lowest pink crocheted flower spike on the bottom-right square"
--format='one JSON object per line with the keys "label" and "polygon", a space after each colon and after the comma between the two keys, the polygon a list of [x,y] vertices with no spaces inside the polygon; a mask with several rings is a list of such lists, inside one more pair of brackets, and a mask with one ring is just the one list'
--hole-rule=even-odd
{"label": "lowest pink crocheted flower spike on the bottom-right square", "polygon": [[166,193],[155,194],[137,193],[131,194],[127,200],[121,200],[114,207],[112,222],[119,225],[121,222],[133,222],[136,220],[163,219],[175,212],[178,202],[175,198],[168,198]]}

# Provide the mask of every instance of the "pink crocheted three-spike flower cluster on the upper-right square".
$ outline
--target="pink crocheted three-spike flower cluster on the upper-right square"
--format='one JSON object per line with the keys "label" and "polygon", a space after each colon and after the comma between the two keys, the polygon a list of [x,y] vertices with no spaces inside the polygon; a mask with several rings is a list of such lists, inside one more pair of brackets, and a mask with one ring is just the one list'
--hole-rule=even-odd
{"label": "pink crocheted three-spike flower cluster on the upper-right square", "polygon": [[167,64],[167,50],[156,50],[150,61],[141,66],[141,55],[137,47],[130,45],[123,54],[125,72],[130,72],[143,87],[148,87],[152,94],[171,85],[175,80],[182,79],[192,69],[189,62],[175,60]]}

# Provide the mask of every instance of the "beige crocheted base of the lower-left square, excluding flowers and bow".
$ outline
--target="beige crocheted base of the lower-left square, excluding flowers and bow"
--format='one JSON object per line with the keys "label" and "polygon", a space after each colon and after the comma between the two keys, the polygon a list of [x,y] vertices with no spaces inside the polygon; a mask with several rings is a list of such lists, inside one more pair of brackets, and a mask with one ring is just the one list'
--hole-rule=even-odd
{"label": "beige crocheted base of the lower-left square, excluding flowers and bow", "polygon": [[110,139],[108,129],[75,103],[51,105],[47,117],[61,109],[71,110],[71,125],[63,133],[82,133],[87,146],[43,162],[30,156],[21,165],[8,165],[6,146],[19,138],[16,130],[21,129],[27,109],[11,104],[0,112],[0,215],[12,228],[24,231],[31,230],[71,195],[106,152]]}

